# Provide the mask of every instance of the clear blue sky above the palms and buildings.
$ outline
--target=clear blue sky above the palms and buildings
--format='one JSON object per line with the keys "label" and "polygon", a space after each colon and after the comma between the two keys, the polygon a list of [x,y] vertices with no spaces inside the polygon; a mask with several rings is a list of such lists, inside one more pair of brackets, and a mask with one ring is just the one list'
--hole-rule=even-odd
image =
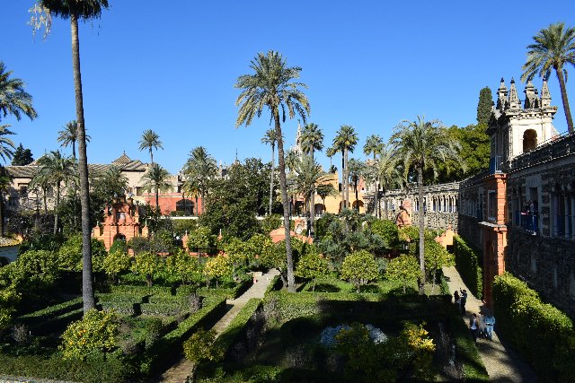
{"label": "clear blue sky above the palms and buildings", "polygon": [[[0,0],[0,60],[27,83],[39,118],[3,120],[16,144],[35,157],[56,150],[57,131],[75,118],[69,22],[55,20],[45,41],[26,25],[33,0]],[[265,113],[234,128],[238,75],[258,52],[278,50],[303,68],[310,121],[332,143],[342,124],[355,126],[363,158],[367,135],[387,139],[403,119],[418,115],[446,125],[475,122],[479,91],[508,87],[526,58],[526,45],[552,22],[573,26],[572,1],[380,2],[111,0],[102,18],[81,24],[80,47],[88,161],[108,163],[123,151],[149,161],[137,142],[146,129],[161,137],[155,153],[171,172],[203,145],[217,161],[270,159],[260,139]],[[568,68],[571,73],[575,68]],[[573,74],[571,74],[572,76]],[[571,77],[570,76],[570,77]],[[524,85],[518,84],[520,96]],[[556,77],[550,80],[555,126],[566,130]],[[536,79],[535,87],[541,88]],[[573,80],[567,84],[575,100]],[[573,109],[571,101],[571,109]],[[284,126],[287,147],[297,121]],[[67,152],[71,152],[67,149]],[[325,165],[323,155],[318,159]],[[339,161],[336,160],[336,164]]]}

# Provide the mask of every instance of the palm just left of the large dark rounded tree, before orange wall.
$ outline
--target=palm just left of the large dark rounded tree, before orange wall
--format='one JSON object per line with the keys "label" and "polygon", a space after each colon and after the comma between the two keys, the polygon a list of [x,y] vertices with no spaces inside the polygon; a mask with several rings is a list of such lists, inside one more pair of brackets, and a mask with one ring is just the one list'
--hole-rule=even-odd
{"label": "palm just left of the large dark rounded tree, before orange wall", "polygon": [[190,152],[190,158],[184,165],[183,174],[187,180],[199,188],[201,196],[201,213],[204,213],[204,201],[211,180],[217,175],[217,163],[208,154],[206,148],[198,146]]}

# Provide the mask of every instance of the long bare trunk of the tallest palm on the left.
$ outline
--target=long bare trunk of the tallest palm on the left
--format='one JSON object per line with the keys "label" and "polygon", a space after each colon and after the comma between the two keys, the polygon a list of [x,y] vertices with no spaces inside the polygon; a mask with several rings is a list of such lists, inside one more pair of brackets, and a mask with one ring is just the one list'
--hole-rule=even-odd
{"label": "long bare trunk of the tallest palm on the left", "polygon": [[84,127],[84,98],[80,73],[80,40],[78,39],[78,18],[70,16],[72,29],[72,66],[74,67],[75,114],[78,135],[78,172],[80,176],[80,204],[82,205],[82,299],[84,313],[96,306],[93,297],[92,243],[90,239],[90,196],[88,183],[88,158],[86,154],[86,131]]}

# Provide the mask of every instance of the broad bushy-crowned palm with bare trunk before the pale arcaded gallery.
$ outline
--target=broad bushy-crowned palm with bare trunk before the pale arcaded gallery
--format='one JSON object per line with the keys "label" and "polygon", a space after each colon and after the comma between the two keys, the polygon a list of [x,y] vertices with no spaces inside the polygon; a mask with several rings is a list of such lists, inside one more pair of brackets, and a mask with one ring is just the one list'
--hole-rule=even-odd
{"label": "broad bushy-crowned palm with bare trunk before the pale arcaded gallery", "polygon": [[[407,123],[407,125],[404,125]],[[424,294],[425,286],[425,260],[424,232],[425,217],[423,205],[423,173],[432,170],[437,174],[438,165],[447,160],[463,163],[459,158],[460,144],[447,134],[441,122],[433,120],[426,122],[425,118],[418,116],[417,121],[403,121],[395,126],[390,138],[399,161],[403,162],[404,175],[414,170],[417,173],[417,184],[420,199],[420,294]]]}

